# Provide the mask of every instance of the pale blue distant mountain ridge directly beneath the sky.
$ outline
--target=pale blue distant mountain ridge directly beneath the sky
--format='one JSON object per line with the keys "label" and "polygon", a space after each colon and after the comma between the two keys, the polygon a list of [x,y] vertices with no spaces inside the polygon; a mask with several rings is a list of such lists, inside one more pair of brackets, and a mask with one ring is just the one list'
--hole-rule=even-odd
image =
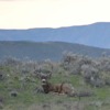
{"label": "pale blue distant mountain ridge directly beneath the sky", "polygon": [[58,41],[110,48],[110,22],[58,29],[0,30],[0,41]]}

